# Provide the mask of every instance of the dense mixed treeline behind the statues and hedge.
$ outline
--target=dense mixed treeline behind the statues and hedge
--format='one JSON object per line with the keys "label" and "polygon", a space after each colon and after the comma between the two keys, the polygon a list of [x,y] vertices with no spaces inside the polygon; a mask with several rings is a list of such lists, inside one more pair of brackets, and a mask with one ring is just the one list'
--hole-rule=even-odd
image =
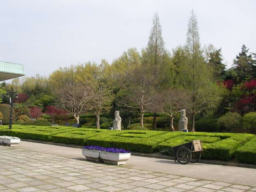
{"label": "dense mixed treeline behind the statues and hedge", "polygon": [[[210,131],[220,131],[218,126],[231,131],[237,126],[254,132],[256,54],[242,45],[233,67],[225,69],[221,48],[201,45],[193,11],[186,43],[171,51],[165,47],[155,14],[148,44],[142,50],[132,47],[111,64],[102,59],[100,64],[88,62],[60,68],[49,77],[38,74],[14,79],[8,85],[3,82],[0,101],[7,104],[5,92],[18,91],[16,116],[37,119],[46,113],[52,123],[59,116],[63,121],[74,118],[81,123],[81,115],[93,114],[100,128],[107,123],[100,121],[102,114],[110,119],[115,110],[120,110],[125,129],[131,123],[146,127],[144,121],[158,129],[157,123],[165,118],[167,123],[163,124],[174,131],[180,109],[187,109],[192,132],[197,130],[195,125],[200,131],[209,131],[199,127],[209,122],[216,125]],[[216,121],[208,121],[209,118]],[[228,124],[231,119],[237,122]],[[202,125],[203,121],[206,123]]]}

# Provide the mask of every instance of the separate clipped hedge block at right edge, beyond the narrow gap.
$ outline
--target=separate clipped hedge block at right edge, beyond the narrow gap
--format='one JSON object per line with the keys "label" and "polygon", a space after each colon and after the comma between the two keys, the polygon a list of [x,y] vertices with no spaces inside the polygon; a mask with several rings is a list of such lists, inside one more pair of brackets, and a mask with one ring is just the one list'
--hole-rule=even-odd
{"label": "separate clipped hedge block at right edge, beyond the narrow gap", "polygon": [[256,138],[236,150],[236,159],[241,163],[256,164]]}

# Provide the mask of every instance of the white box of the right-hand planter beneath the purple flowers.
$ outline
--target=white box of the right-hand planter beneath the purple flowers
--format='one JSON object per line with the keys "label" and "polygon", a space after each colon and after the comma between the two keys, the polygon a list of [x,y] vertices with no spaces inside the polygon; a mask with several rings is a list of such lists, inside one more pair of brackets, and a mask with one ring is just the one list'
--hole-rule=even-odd
{"label": "white box of the right-hand planter beneath the purple flowers", "polygon": [[115,165],[125,164],[130,159],[131,153],[108,153],[100,151],[100,158],[104,163],[111,163]]}

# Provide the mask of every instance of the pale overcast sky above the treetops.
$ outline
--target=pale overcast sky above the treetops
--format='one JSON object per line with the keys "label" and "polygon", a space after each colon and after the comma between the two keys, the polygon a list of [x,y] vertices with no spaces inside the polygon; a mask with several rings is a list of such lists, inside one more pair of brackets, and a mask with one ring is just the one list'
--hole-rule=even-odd
{"label": "pale overcast sky above the treetops", "polygon": [[158,12],[166,48],[186,40],[194,9],[201,45],[232,60],[245,44],[256,52],[256,0],[1,0],[0,60],[23,64],[27,76],[106,59],[145,47]]}

